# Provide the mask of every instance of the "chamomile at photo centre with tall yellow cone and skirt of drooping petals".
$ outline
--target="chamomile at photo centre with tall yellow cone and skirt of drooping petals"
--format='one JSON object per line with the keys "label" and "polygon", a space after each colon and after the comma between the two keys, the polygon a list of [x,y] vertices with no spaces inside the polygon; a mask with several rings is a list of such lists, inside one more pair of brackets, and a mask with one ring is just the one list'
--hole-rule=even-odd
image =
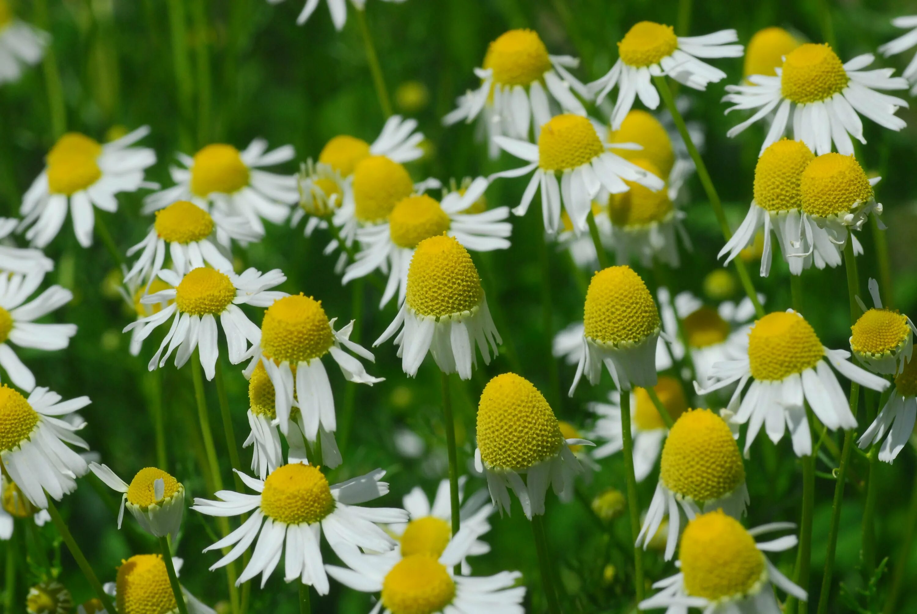
{"label": "chamomile at photo centre with tall yellow cone and skirt of drooping petals", "polygon": [[433,355],[440,371],[458,373],[461,379],[470,379],[478,363],[475,346],[486,364],[491,363],[491,351],[497,355],[503,340],[487,307],[481,277],[468,250],[455,238],[430,237],[417,245],[407,272],[404,304],[373,347],[396,332],[402,369],[411,377],[426,352]]}

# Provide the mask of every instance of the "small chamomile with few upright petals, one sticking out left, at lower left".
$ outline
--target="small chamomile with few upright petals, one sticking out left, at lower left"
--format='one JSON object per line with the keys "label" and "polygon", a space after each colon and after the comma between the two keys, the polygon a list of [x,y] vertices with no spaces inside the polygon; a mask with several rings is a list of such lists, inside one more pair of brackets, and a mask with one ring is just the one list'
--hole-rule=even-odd
{"label": "small chamomile with few upright petals, one sticking out left, at lower left", "polygon": [[122,494],[117,528],[121,528],[124,508],[140,526],[154,537],[171,535],[174,539],[182,526],[184,486],[170,474],[156,467],[144,467],[127,484],[108,465],[89,463],[89,469],[109,488]]}

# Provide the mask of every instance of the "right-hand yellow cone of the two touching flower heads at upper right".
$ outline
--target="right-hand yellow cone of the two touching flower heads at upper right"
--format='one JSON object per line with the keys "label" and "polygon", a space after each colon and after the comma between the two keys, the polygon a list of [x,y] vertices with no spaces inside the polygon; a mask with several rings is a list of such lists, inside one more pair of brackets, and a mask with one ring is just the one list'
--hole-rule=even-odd
{"label": "right-hand yellow cone of the two touching flower heads at upper right", "polygon": [[853,156],[831,152],[810,162],[800,183],[802,211],[827,218],[844,215],[856,204],[872,200],[872,185]]}

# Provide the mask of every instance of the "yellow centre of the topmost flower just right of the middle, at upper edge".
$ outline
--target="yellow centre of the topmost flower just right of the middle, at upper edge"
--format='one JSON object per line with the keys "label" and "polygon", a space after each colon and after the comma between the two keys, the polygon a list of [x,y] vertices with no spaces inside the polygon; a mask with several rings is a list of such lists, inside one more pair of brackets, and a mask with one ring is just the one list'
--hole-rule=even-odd
{"label": "yellow centre of the topmost flower just right of the middle, at upper edge", "polygon": [[501,85],[528,85],[551,70],[545,43],[535,31],[510,30],[487,48],[484,68],[493,71],[493,81]]}

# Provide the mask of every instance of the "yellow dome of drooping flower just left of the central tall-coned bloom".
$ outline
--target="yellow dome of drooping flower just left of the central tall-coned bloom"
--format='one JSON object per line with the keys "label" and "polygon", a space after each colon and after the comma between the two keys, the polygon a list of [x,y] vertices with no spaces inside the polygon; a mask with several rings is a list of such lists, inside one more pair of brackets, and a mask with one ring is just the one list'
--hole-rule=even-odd
{"label": "yellow dome of drooping flower just left of the central tall-coned bloom", "polygon": [[264,312],[261,350],[267,358],[308,363],[324,356],[334,341],[322,302],[312,296],[285,296]]}

